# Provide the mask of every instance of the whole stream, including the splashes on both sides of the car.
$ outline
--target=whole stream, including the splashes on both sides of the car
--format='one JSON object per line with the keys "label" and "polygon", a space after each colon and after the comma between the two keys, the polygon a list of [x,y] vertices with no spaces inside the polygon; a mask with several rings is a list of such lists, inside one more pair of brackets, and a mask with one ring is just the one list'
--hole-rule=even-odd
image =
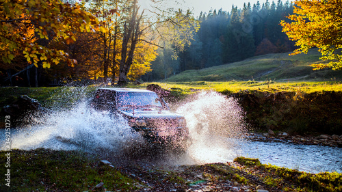
{"label": "whole stream, including the splashes on both sides of the car", "polygon": [[[244,111],[233,98],[200,92],[172,108],[185,115],[192,138],[182,155],[165,151],[158,152],[154,159],[147,158],[151,148],[146,147],[148,143],[139,133],[131,131],[124,118],[92,111],[86,100],[70,109],[34,117],[35,123],[29,126],[12,128],[12,149],[83,150],[121,161],[141,159],[168,165],[225,163],[246,156],[304,172],[342,173],[341,148],[248,141]],[[5,131],[0,134],[0,149],[5,150]]]}

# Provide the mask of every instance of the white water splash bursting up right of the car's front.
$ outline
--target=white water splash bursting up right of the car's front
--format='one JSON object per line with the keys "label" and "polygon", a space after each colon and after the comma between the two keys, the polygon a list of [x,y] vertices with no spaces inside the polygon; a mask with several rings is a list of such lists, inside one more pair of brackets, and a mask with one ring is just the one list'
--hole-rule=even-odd
{"label": "white water splash bursting up right of the car's front", "polygon": [[244,111],[233,98],[200,92],[177,112],[185,115],[192,145],[187,153],[195,163],[232,161],[246,135]]}

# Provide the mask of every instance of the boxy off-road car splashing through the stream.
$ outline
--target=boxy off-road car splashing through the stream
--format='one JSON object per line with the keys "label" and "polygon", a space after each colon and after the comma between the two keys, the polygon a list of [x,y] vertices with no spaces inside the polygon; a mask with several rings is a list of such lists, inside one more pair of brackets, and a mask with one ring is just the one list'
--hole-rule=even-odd
{"label": "boxy off-road car splashing through the stream", "polygon": [[97,110],[122,115],[134,131],[148,141],[183,141],[188,129],[183,115],[170,111],[167,103],[148,90],[99,88],[91,103]]}

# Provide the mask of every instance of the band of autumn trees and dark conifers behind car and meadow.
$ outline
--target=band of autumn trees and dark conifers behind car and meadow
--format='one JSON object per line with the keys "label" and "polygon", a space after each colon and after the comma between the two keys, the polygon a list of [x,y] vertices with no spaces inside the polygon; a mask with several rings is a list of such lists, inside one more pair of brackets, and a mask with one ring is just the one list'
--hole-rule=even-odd
{"label": "band of autumn trees and dark conifers behind car and meadow", "polygon": [[295,49],[279,25],[293,13],[289,1],[233,5],[197,18],[163,4],[142,10],[138,0],[51,2],[0,4],[0,85],[157,81]]}

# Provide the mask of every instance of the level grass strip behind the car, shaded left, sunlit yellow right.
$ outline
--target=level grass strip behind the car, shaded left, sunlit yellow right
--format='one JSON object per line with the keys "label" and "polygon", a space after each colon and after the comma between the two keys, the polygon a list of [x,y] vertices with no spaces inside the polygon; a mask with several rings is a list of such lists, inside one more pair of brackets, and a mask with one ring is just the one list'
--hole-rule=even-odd
{"label": "level grass strip behind the car, shaded left, sunlit yellow right", "polygon": [[[163,89],[169,90],[174,96],[184,98],[199,90],[212,90],[215,92],[238,93],[248,91],[259,92],[339,92],[342,91],[342,81],[193,81],[181,83],[157,83]],[[141,85],[129,84],[127,87],[146,89],[151,83]],[[43,107],[53,107],[57,103],[75,102],[81,98],[91,96],[96,86],[89,87],[0,87],[0,107],[8,105],[16,97],[27,95],[37,99]],[[62,106],[61,104],[61,106]]]}

